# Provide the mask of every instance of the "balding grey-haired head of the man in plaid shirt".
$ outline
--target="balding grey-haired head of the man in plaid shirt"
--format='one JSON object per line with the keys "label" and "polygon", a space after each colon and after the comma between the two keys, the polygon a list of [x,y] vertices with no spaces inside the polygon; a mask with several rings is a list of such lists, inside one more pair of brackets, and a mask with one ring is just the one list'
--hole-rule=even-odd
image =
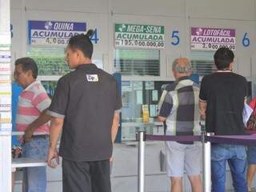
{"label": "balding grey-haired head of the man in plaid shirt", "polygon": [[189,76],[192,74],[192,66],[188,58],[176,58],[173,62],[173,72]]}

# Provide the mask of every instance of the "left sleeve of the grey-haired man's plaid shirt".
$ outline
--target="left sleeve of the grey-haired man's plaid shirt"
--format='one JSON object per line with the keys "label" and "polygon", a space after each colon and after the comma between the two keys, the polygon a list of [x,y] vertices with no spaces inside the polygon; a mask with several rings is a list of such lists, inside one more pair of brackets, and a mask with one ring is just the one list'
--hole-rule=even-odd
{"label": "left sleeve of the grey-haired man's plaid shirt", "polygon": [[166,90],[164,90],[162,92],[161,98],[164,98],[164,99],[163,99],[162,103],[160,103],[161,102],[161,99],[160,99],[158,116],[161,116],[163,118],[167,118],[170,114],[171,109],[174,106],[173,98],[171,97],[171,95]]}

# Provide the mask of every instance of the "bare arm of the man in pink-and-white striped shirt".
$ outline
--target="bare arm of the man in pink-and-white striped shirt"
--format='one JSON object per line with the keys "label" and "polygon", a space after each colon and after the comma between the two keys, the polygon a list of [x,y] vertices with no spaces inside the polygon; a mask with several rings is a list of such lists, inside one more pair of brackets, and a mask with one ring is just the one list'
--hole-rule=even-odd
{"label": "bare arm of the man in pink-and-white striped shirt", "polygon": [[47,110],[48,109],[43,110],[42,114],[40,114],[40,116],[34,120],[34,122],[27,126],[25,134],[23,135],[25,142],[29,142],[32,139],[31,137],[34,133],[34,130],[50,121],[50,115],[46,114]]}

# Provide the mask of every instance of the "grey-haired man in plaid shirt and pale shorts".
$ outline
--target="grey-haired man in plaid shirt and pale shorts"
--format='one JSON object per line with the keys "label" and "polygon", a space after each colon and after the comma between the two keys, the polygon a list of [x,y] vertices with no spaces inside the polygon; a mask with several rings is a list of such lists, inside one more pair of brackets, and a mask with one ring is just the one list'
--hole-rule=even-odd
{"label": "grey-haired man in plaid shirt and pale shorts", "polygon": [[[176,58],[172,73],[176,81],[162,93],[158,106],[158,119],[166,122],[167,135],[198,135],[199,86],[190,80],[192,66],[187,58]],[[171,191],[182,192],[184,169],[193,192],[202,191],[200,142],[166,142],[166,168],[170,177]]]}

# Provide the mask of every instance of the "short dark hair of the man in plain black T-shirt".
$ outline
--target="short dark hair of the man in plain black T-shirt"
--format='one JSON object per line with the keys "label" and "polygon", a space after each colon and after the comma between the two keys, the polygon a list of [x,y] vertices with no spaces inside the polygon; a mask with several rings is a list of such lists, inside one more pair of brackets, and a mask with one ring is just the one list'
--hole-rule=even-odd
{"label": "short dark hair of the man in plain black T-shirt", "polygon": [[214,63],[218,70],[226,69],[234,61],[234,53],[226,47],[221,47],[214,54]]}

